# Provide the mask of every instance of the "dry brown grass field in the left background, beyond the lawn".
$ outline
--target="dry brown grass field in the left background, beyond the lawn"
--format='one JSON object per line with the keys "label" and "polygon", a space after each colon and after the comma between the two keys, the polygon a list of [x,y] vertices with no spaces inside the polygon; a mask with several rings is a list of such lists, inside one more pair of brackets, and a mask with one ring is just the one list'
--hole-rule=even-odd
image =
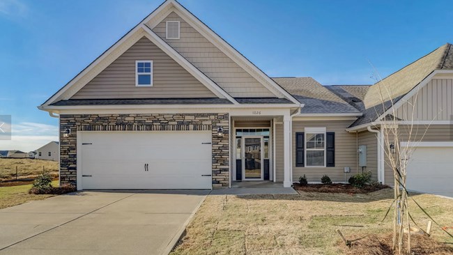
{"label": "dry brown grass field in the left background, beyond the lawn", "polygon": [[38,174],[48,171],[52,176],[58,176],[59,162],[52,160],[34,160],[28,158],[0,158],[0,181],[19,178],[33,178]]}

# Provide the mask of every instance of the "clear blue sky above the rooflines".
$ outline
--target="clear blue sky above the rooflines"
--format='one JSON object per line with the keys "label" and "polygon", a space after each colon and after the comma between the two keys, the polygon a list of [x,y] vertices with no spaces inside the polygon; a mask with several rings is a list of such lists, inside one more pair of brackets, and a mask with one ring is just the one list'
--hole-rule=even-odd
{"label": "clear blue sky above the rooflines", "polygon": [[[449,1],[181,0],[271,77],[374,83],[453,42]],[[0,115],[34,150],[57,139],[58,120],[36,106],[89,65],[162,0],[0,0]]]}

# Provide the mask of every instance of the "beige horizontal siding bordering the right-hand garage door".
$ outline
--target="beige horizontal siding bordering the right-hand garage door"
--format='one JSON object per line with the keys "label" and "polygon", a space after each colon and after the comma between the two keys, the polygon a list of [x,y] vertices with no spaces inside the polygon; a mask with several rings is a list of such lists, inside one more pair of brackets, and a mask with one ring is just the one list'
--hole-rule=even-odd
{"label": "beige horizontal siding bordering the right-hand garage door", "polygon": [[[453,141],[452,125],[414,125],[410,136],[410,126],[399,125],[399,141]],[[392,136],[390,139],[393,139]],[[393,171],[385,157],[385,184],[394,185]]]}

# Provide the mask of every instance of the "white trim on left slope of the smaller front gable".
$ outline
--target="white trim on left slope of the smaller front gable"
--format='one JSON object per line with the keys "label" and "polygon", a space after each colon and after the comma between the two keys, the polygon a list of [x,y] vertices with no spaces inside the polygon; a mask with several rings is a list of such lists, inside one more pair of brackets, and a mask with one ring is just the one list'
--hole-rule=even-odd
{"label": "white trim on left slope of the smaller front gable", "polygon": [[[100,55],[98,57],[98,59],[96,59],[95,61],[93,61],[93,63],[91,63],[88,67],[86,67],[82,72],[80,72],[76,77],[72,78],[70,80],[70,82],[68,82],[68,84],[66,84],[65,86],[63,86],[63,88],[61,88],[59,91],[57,91],[54,95],[52,95],[52,97],[50,97],[49,99],[47,99],[47,101],[45,101],[43,103],[43,106],[44,105],[50,105],[52,104],[53,102],[56,102],[56,100],[59,99],[59,97],[61,95],[63,95],[66,91],[68,91],[68,89],[70,87],[72,87],[72,85],[74,85],[75,83],[77,83],[79,81],[79,79],[82,79],[82,77],[84,77],[84,75],[86,75],[88,72],[91,71],[91,69],[93,69],[96,65],[98,65],[100,62],[102,62],[107,56],[109,56],[109,54],[112,54],[112,52],[115,51],[116,48],[118,48],[120,45],[123,44],[123,42],[125,42],[126,40],[128,40],[132,35],[134,35],[135,33],[137,33],[137,31],[139,31],[140,27],[139,26],[135,26],[134,29],[132,29],[131,31],[129,31],[125,36],[123,36],[123,38],[121,38],[120,40],[118,40],[118,42],[116,42],[112,47],[110,47],[109,49],[107,49],[106,52],[104,52],[102,55]],[[39,107],[38,107],[39,108]]]}

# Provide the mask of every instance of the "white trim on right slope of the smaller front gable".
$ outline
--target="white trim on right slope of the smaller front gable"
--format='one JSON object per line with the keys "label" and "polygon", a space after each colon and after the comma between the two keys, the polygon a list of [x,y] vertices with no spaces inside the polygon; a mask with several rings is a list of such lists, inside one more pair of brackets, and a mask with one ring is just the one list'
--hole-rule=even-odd
{"label": "white trim on right slope of the smaller front gable", "polygon": [[229,95],[226,91],[224,91],[220,86],[215,84],[211,79],[209,79],[203,72],[198,70],[192,63],[187,61],[181,54],[176,52],[175,49],[173,49],[167,42],[162,40],[157,34],[154,33],[153,30],[151,30],[146,24],[141,24],[140,27],[146,31],[146,38],[151,40],[155,45],[157,45],[162,51],[165,52],[165,54],[171,56],[171,59],[174,59],[174,61],[178,62],[187,72],[190,72],[191,75],[193,75],[195,78],[197,78],[201,83],[204,84],[210,91],[212,91],[215,95],[217,95],[219,98],[227,98],[229,101],[233,102],[234,105],[239,105],[236,100],[234,100],[231,95]]}

